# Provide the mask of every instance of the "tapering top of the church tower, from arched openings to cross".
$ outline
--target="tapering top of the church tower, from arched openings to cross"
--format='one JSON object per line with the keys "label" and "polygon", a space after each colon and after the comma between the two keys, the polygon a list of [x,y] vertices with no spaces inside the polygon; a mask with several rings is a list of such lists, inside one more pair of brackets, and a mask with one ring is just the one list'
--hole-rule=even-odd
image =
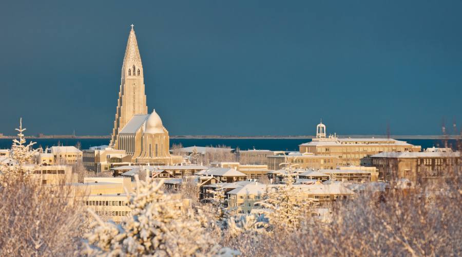
{"label": "tapering top of the church tower, from arched openings to cross", "polygon": [[143,65],[141,64],[137,36],[134,33],[134,25],[131,24],[130,26],[130,34],[128,35],[127,48],[125,49],[125,57],[122,65],[122,79],[131,76],[143,76]]}

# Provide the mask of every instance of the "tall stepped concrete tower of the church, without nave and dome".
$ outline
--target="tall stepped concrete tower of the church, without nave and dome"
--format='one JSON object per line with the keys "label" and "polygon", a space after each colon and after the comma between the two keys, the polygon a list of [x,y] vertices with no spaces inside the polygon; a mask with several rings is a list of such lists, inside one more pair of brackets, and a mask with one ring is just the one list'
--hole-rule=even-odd
{"label": "tall stepped concrete tower of the church, without nave and dome", "polygon": [[122,128],[134,115],[146,114],[147,105],[144,93],[143,65],[141,63],[140,50],[138,49],[137,36],[134,33],[132,24],[122,64],[119,100],[117,101],[110,146],[114,149],[119,149],[118,134]]}

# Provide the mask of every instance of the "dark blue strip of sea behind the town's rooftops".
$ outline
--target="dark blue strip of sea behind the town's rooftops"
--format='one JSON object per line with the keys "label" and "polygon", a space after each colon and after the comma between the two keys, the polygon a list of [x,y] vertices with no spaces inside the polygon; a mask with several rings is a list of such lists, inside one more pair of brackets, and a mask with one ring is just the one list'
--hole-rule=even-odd
{"label": "dark blue strip of sea behind the town's rooftops", "polygon": [[[54,145],[76,145],[80,142],[81,149],[89,149],[91,146],[107,145],[109,139],[74,139],[74,138],[37,138],[27,139],[29,141],[36,142],[34,148],[47,148]],[[407,141],[414,145],[420,145],[422,149],[435,147],[444,147],[445,143],[440,139],[397,139]],[[170,147],[173,144],[180,144],[183,147],[187,146],[218,146],[225,145],[230,148],[240,150],[259,149],[259,150],[272,150],[272,151],[298,151],[298,145],[306,142],[310,142],[311,139],[224,139],[224,138],[213,138],[213,139],[170,139]],[[11,148],[12,139],[0,139],[0,149]],[[456,141],[448,140],[448,146],[455,148]]]}

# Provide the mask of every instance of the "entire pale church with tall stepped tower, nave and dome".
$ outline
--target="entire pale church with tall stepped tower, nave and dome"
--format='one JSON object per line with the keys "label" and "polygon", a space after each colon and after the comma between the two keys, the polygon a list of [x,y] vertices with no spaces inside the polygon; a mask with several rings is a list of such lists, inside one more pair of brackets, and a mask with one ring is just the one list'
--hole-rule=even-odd
{"label": "entire pale church with tall stepped tower, nave and dome", "polygon": [[168,131],[155,110],[148,114],[143,65],[133,25],[128,35],[110,146],[125,150],[132,162],[171,164]]}

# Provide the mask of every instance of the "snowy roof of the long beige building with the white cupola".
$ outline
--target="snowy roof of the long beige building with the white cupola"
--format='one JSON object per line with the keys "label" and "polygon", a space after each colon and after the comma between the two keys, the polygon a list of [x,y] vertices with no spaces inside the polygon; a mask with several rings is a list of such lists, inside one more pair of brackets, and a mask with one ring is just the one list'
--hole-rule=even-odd
{"label": "snowy roof of the long beige building with the white cupola", "polygon": [[408,145],[406,141],[399,141],[391,138],[335,138],[332,140],[313,140],[300,144],[303,146],[337,146],[337,145]]}

